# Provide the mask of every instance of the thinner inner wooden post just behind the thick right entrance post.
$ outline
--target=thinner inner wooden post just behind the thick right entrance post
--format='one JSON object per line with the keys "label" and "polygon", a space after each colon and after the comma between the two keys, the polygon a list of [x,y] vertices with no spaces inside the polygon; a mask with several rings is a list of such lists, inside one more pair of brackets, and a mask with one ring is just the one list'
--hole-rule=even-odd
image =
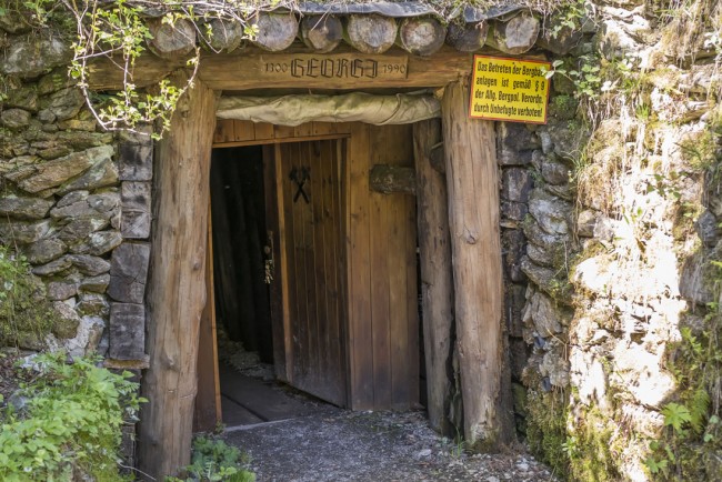
{"label": "thinner inner wooden post just behind the thick right entrance post", "polygon": [[417,167],[417,220],[421,253],[421,305],[427,362],[427,410],[433,430],[451,434],[447,418],[451,380],[451,331],[453,279],[447,180],[431,167],[430,154],[441,141],[441,123],[431,119],[413,124],[413,157]]}

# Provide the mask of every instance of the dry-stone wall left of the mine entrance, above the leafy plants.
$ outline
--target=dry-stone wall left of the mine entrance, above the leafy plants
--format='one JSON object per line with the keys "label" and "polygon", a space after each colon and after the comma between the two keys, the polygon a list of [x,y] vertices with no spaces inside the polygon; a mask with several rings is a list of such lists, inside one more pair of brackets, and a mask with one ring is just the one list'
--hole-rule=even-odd
{"label": "dry-stone wall left of the mine entrance, above the leafy plants", "polygon": [[0,64],[12,87],[0,110],[0,242],[27,257],[60,320],[19,348],[140,369],[152,141],[98,128],[68,80],[67,42],[14,33]]}

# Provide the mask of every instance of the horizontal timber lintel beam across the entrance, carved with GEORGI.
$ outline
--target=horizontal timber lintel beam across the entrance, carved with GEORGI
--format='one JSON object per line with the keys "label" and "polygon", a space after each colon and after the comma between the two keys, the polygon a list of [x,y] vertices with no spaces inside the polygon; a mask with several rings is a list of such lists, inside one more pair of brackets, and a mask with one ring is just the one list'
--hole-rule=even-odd
{"label": "horizontal timber lintel beam across the entrance, carved with GEORGI", "polygon": [[[293,44],[272,53],[247,48],[231,53],[204,53],[198,77],[213,90],[250,89],[384,89],[443,87],[471,71],[471,54],[448,46],[429,57],[415,57],[393,47],[382,54],[339,47],[331,53],[313,53]],[[152,54],[136,60],[132,83],[147,87],[185,66],[184,59],[166,60]],[[123,72],[108,60],[91,63],[90,88],[118,90]]]}

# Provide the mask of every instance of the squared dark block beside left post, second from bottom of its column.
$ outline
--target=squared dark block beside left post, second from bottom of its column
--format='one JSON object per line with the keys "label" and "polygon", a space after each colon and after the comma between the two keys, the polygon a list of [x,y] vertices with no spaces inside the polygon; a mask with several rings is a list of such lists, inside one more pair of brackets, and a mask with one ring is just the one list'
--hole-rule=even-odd
{"label": "squared dark block beside left post, second from bottom of its column", "polygon": [[146,294],[150,244],[124,242],[110,259],[108,294],[116,301],[142,303]]}

